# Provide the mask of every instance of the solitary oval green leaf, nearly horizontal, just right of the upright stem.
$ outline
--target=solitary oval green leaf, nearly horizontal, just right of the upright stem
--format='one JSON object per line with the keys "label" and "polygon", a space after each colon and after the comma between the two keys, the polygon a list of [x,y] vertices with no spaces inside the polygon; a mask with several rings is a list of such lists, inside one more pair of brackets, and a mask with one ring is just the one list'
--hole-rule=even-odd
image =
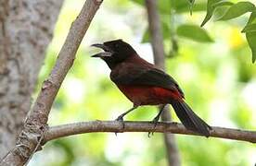
{"label": "solitary oval green leaf, nearly horizontal, just right of the upright stem", "polygon": [[177,34],[179,36],[191,39],[198,42],[212,42],[213,40],[208,35],[207,31],[196,26],[183,24],[177,28]]}

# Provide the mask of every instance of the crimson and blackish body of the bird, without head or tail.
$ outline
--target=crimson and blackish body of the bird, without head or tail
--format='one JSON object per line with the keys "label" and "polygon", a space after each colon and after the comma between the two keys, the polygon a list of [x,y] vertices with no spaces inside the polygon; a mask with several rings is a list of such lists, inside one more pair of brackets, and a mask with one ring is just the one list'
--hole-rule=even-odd
{"label": "crimson and blackish body of the bird, without head or tail", "polygon": [[136,53],[112,69],[110,78],[134,105],[158,105],[184,98],[172,77]]}

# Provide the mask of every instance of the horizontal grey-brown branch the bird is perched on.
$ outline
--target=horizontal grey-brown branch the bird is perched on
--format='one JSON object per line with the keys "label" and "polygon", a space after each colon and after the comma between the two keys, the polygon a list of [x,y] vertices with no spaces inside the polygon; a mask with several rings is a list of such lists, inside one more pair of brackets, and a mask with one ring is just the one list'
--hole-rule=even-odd
{"label": "horizontal grey-brown branch the bird is perched on", "polygon": [[[47,142],[53,139],[57,139],[63,136],[71,136],[83,133],[96,133],[96,132],[158,132],[158,133],[173,133],[182,135],[194,135],[199,136],[193,131],[187,130],[184,125],[170,122],[160,122],[154,128],[154,124],[151,122],[124,122],[124,129],[122,124],[117,121],[91,121],[81,122],[69,125],[57,125],[52,126],[45,131],[43,142]],[[240,130],[232,128],[224,128],[212,126],[210,133],[212,137],[220,137],[225,139],[234,139],[240,141],[247,141],[256,143],[256,131]]]}

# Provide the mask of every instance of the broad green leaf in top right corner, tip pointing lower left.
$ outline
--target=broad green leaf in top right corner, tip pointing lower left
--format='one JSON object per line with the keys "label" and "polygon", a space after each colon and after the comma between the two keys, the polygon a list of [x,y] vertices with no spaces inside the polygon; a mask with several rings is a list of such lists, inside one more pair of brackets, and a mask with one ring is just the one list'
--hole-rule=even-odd
{"label": "broad green leaf in top right corner, tip pointing lower left", "polygon": [[218,20],[227,20],[232,18],[237,18],[247,12],[252,12],[255,10],[255,6],[250,2],[238,2],[237,4],[231,6],[224,14],[223,17],[218,18]]}

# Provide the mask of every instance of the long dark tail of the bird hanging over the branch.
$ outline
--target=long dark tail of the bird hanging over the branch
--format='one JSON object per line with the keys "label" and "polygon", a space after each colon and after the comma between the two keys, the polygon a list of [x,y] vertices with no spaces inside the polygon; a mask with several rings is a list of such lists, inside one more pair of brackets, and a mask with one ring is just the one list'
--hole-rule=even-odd
{"label": "long dark tail of the bird hanging over the branch", "polygon": [[207,125],[201,118],[199,118],[185,101],[172,101],[171,104],[186,129],[197,132],[203,136],[210,136],[211,126]]}

